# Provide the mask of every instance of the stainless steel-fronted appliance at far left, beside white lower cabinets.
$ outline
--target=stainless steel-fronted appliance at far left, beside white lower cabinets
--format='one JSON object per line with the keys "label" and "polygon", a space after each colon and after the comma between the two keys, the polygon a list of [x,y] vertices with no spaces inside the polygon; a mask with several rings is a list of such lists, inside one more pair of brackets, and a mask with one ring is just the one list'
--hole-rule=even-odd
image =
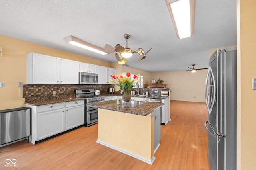
{"label": "stainless steel-fronted appliance at far left, beside white lower cabinets", "polygon": [[30,113],[30,107],[0,110],[0,145],[30,136]]}

